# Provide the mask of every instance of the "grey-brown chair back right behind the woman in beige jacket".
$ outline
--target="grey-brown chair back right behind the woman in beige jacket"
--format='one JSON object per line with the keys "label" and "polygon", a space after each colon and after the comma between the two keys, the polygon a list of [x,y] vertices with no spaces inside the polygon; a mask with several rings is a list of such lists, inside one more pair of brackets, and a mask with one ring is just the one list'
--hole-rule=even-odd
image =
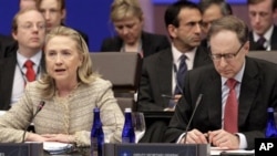
{"label": "grey-brown chair back right behind the woman in beige jacket", "polygon": [[121,110],[136,111],[134,95],[138,89],[142,59],[138,53],[92,52],[93,71],[113,84],[114,96]]}

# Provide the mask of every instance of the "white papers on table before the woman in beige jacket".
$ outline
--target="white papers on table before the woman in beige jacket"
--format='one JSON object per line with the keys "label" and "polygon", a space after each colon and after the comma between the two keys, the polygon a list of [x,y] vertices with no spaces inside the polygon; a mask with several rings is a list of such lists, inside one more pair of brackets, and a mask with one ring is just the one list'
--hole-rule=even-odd
{"label": "white papers on table before the woman in beige jacket", "polygon": [[73,145],[58,142],[44,142],[43,149],[49,152],[51,155],[64,154],[72,152]]}

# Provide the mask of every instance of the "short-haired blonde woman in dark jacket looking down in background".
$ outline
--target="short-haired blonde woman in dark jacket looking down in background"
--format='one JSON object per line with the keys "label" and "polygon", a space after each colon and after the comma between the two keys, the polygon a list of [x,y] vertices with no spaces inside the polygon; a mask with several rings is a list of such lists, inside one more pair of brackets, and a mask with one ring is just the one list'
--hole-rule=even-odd
{"label": "short-haired blonde woman in dark jacket looking down in background", "polygon": [[143,58],[171,46],[166,35],[143,31],[143,12],[136,0],[114,0],[111,20],[117,35],[102,41],[102,52],[138,52]]}

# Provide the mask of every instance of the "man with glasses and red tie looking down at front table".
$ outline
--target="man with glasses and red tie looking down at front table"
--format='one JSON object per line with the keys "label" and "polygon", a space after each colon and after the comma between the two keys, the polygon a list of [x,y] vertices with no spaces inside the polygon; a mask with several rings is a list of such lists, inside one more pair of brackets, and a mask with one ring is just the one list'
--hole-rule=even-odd
{"label": "man with glasses and red tie looking down at front table", "polygon": [[[164,139],[253,149],[255,138],[264,137],[267,107],[277,106],[276,64],[246,56],[248,29],[236,17],[215,21],[208,41],[214,65],[187,72],[184,96]],[[229,83],[235,86],[228,86]],[[202,101],[185,132],[199,94],[203,94]]]}

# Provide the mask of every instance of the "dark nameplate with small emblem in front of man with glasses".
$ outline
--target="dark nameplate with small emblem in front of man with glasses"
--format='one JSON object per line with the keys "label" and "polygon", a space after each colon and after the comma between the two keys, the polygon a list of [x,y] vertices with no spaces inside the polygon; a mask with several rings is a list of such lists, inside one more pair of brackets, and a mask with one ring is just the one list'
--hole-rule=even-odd
{"label": "dark nameplate with small emblem in front of man with glasses", "polygon": [[208,144],[104,144],[104,156],[209,156]]}

